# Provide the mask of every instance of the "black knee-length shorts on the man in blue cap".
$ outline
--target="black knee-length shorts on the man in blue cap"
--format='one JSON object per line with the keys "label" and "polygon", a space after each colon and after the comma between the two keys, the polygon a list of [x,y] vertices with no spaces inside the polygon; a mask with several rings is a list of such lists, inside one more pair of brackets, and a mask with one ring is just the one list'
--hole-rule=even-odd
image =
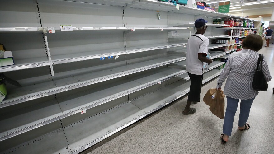
{"label": "black knee-length shorts on the man in blue cap", "polygon": [[199,102],[201,99],[201,88],[203,75],[196,75],[187,72],[190,77],[190,92],[187,101]]}

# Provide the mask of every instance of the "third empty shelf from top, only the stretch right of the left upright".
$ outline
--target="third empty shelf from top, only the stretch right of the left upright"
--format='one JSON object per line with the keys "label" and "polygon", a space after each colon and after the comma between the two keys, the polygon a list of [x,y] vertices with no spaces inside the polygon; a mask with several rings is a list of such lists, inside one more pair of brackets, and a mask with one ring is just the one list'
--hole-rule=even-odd
{"label": "third empty shelf from top, only the stretch right of the left upright", "polygon": [[175,63],[184,59],[185,57],[166,56],[159,59],[153,59],[141,63],[132,63],[99,72],[87,72],[80,75],[78,75],[77,72],[72,72],[70,77],[61,77],[62,73],[55,73],[53,80],[59,91],[62,92],[144,71],[146,69],[163,66],[167,63]]}

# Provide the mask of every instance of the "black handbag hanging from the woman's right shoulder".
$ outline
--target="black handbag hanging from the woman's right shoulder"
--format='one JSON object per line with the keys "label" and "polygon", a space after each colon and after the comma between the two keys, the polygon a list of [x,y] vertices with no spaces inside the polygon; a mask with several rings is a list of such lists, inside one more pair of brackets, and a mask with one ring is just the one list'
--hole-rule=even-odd
{"label": "black handbag hanging from the woman's right shoulder", "polygon": [[268,84],[264,79],[262,72],[263,54],[259,55],[256,72],[252,81],[252,88],[257,91],[267,91]]}

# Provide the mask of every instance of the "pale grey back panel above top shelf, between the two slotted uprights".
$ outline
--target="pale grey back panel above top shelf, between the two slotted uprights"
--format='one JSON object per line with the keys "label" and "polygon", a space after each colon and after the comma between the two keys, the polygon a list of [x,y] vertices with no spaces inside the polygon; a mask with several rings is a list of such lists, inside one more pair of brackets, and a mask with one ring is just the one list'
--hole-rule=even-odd
{"label": "pale grey back panel above top shelf, between the two slotted uprights", "polygon": [[56,0],[38,4],[45,27],[123,27],[122,7]]}

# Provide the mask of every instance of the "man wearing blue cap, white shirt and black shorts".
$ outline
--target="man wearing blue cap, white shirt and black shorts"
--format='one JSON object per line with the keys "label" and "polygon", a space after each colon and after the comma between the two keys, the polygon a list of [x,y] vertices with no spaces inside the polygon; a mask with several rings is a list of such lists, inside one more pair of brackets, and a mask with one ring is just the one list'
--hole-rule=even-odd
{"label": "man wearing blue cap, white shirt and black shorts", "polygon": [[211,59],[206,58],[209,40],[203,34],[207,28],[205,19],[197,19],[194,23],[197,32],[188,38],[187,42],[187,73],[190,77],[190,92],[187,98],[187,105],[183,114],[193,114],[195,108],[190,108],[191,102],[196,104],[200,101],[203,80],[203,62],[212,63]]}

